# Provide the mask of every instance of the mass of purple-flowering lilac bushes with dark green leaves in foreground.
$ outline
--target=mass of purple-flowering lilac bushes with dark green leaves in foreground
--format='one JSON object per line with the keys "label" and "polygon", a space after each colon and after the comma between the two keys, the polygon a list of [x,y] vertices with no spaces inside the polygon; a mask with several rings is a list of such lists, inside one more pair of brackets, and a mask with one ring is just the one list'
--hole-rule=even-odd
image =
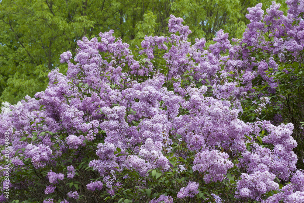
{"label": "mass of purple-flowering lilac bushes with dark green leaves in foreground", "polygon": [[208,48],[173,15],[134,50],[78,40],[66,75],[2,107],[0,201],[304,202],[304,2],[286,3]]}

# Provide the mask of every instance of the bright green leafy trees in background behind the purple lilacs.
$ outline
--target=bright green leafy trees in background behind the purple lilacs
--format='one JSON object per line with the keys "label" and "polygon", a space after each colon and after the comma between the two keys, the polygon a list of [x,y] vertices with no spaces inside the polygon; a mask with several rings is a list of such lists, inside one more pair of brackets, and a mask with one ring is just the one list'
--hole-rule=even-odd
{"label": "bright green leafy trees in background behind the purple lilacs", "polygon": [[[282,1],[282,0],[280,0]],[[1,0],[0,102],[16,104],[24,96],[45,90],[48,73],[59,68],[60,54],[76,54],[76,42],[114,30],[132,47],[147,34],[167,36],[170,14],[190,26],[189,40],[212,40],[220,29],[241,37],[252,0]],[[270,1],[265,2],[265,8]]]}

